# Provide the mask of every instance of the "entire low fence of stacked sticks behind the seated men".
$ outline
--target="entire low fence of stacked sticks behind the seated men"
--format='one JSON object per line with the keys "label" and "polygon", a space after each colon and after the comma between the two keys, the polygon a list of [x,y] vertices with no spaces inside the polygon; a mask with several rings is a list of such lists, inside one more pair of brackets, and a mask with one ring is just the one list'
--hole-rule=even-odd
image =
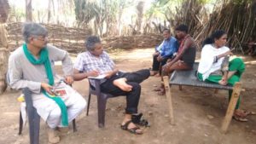
{"label": "entire low fence of stacked sticks behind the seated men", "polygon": [[[58,48],[66,49],[71,53],[79,53],[84,51],[84,40],[92,35],[91,29],[79,29],[64,27],[59,25],[44,25],[49,32],[49,43]],[[24,40],[21,35],[22,23],[9,23],[7,26],[9,49],[12,51],[18,47]],[[106,37],[102,39],[104,48],[151,48],[155,47],[162,41],[159,34],[136,35],[132,37]]]}

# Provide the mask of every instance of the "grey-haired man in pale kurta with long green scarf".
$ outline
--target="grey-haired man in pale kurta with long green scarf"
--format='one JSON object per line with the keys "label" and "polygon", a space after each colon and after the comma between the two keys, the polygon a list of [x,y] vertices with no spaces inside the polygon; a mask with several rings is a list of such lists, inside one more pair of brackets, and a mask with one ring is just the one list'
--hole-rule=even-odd
{"label": "grey-haired man in pale kurta with long green scarf", "polygon": [[[86,101],[67,84],[73,83],[73,64],[67,51],[48,45],[47,30],[37,23],[26,23],[22,29],[25,43],[9,56],[9,83],[13,89],[32,91],[33,106],[49,126],[50,143],[58,143],[58,131],[84,110]],[[54,72],[55,61],[61,60],[64,81]],[[61,91],[60,94],[54,95]]]}

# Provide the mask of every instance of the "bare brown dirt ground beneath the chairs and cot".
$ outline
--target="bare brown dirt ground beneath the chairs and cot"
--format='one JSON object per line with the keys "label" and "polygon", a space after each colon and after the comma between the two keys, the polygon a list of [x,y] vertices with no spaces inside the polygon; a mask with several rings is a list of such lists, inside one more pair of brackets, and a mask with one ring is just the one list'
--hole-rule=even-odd
{"label": "bare brown dirt ground beneath the chairs and cot", "polygon": [[[111,53],[119,69],[132,72],[149,68],[153,49],[131,49]],[[247,70],[242,78],[244,91],[241,92],[241,108],[256,112],[256,59],[242,56]],[[61,67],[56,66],[61,73]],[[246,123],[232,120],[227,134],[222,134],[220,126],[228,105],[228,91],[172,86],[175,125],[171,125],[165,95],[157,95],[153,90],[160,85],[160,78],[150,77],[142,84],[139,111],[143,112],[151,126],[143,135],[131,135],[121,130],[119,124],[124,116],[125,97],[108,100],[105,128],[97,126],[96,96],[92,96],[90,114],[83,112],[77,118],[78,131],[73,133],[70,124],[68,135],[61,137],[61,144],[255,144],[256,116],[249,116]],[[84,99],[88,99],[88,81],[75,82]],[[20,103],[16,101],[20,92],[8,89],[0,95],[0,144],[29,143],[28,124],[22,135],[18,134]],[[40,143],[47,143],[46,124],[41,120]]]}

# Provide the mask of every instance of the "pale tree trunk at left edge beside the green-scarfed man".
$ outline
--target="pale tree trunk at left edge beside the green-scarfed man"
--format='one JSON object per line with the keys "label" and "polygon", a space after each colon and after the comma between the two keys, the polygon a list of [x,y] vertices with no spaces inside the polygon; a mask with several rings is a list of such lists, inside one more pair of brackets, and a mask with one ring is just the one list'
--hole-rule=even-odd
{"label": "pale tree trunk at left edge beside the green-scarfed man", "polygon": [[8,69],[9,49],[5,24],[0,24],[0,95],[7,88],[5,75]]}

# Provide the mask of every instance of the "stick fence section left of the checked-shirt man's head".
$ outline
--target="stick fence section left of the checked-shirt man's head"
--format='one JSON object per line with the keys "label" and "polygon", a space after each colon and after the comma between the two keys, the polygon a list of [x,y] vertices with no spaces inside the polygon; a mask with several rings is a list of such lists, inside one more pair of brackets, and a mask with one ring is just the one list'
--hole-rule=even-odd
{"label": "stick fence section left of the checked-shirt man's head", "polygon": [[[69,52],[83,51],[84,39],[92,34],[90,28],[79,29],[59,25],[42,25],[48,30],[49,43],[58,48],[66,49]],[[14,50],[24,43],[21,28],[22,23],[20,22],[8,24],[9,49]]]}

